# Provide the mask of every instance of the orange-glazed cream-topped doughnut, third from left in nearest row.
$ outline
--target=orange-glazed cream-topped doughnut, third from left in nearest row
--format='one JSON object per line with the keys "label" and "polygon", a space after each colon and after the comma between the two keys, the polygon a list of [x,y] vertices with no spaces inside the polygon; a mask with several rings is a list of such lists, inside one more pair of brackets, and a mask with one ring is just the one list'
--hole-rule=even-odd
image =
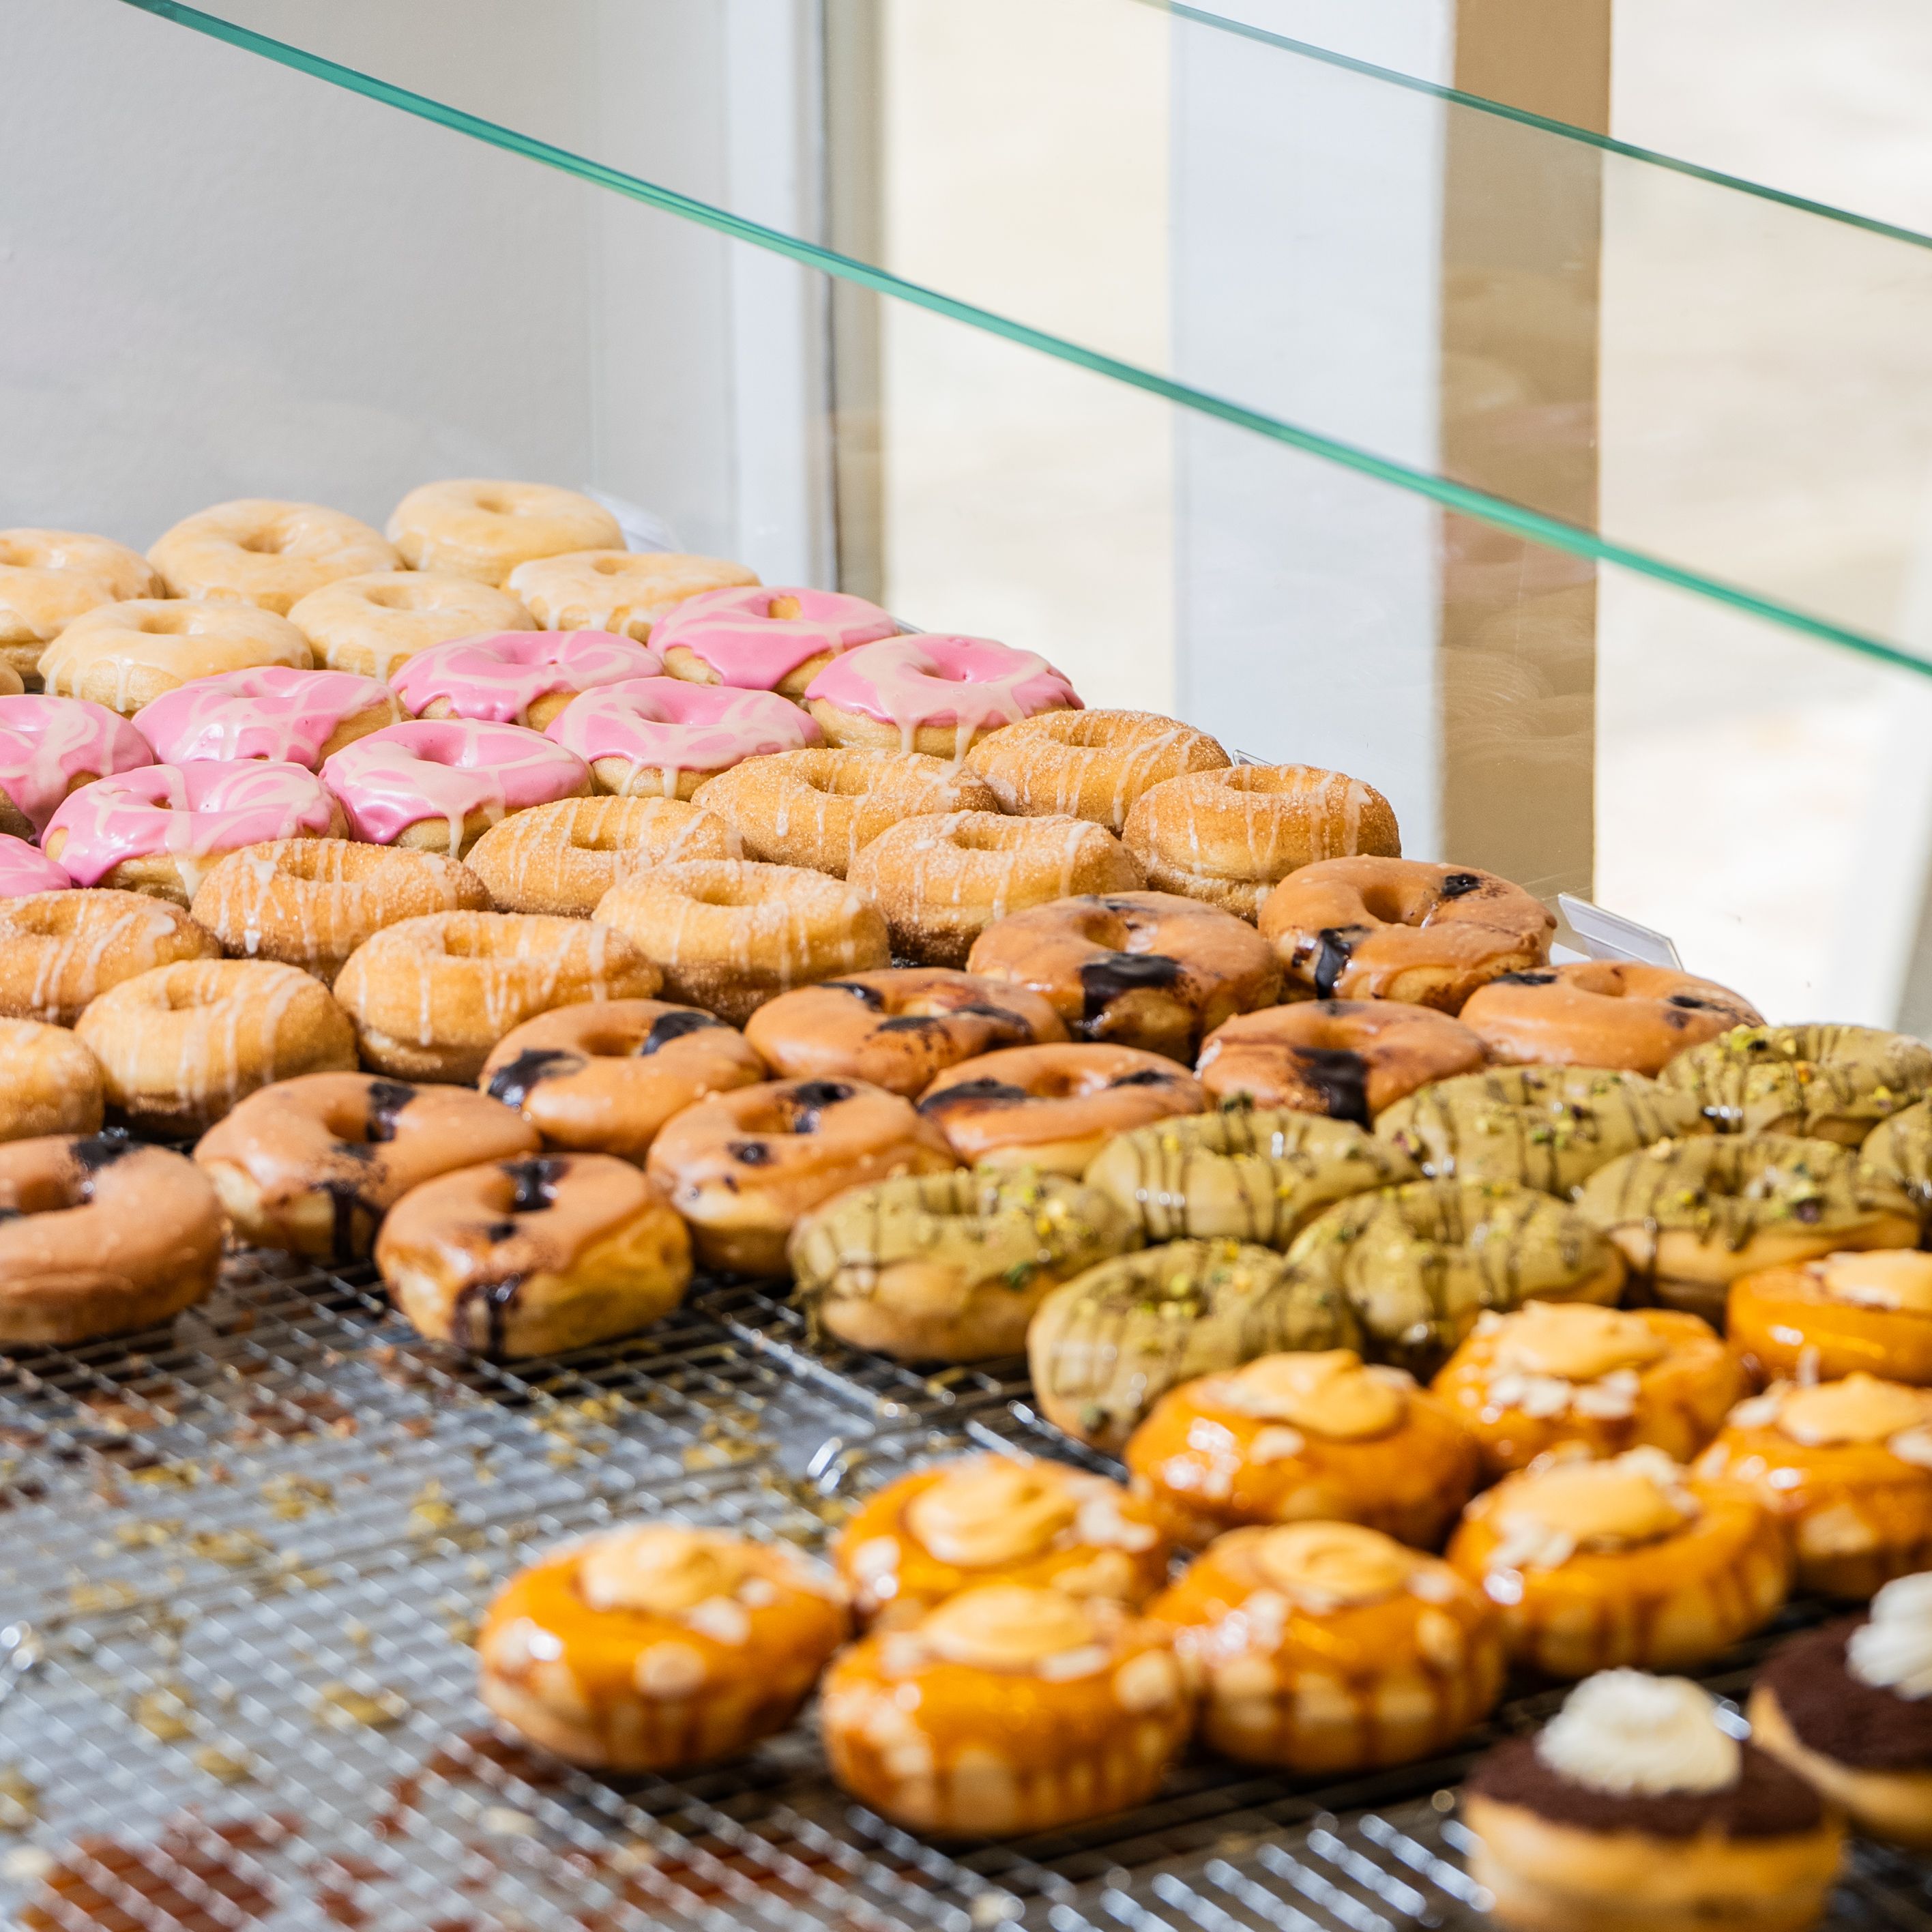
{"label": "orange-glazed cream-topped doughnut, third from left in nearest row", "polygon": [[1358,1522],[1229,1530],[1148,1605],[1244,1764],[1350,1777],[1447,1750],[1503,1690],[1503,1629],[1437,1557]]}

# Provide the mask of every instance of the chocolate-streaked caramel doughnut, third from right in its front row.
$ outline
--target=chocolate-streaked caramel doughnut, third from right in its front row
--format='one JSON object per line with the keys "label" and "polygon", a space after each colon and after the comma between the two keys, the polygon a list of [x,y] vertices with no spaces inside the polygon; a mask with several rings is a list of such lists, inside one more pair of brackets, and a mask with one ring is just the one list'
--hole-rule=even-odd
{"label": "chocolate-streaked caramel doughnut, third from right in its front row", "polygon": [[920,1097],[960,1161],[1076,1180],[1115,1134],[1206,1105],[1200,1082],[1173,1061],[1101,1043],[981,1053]]}

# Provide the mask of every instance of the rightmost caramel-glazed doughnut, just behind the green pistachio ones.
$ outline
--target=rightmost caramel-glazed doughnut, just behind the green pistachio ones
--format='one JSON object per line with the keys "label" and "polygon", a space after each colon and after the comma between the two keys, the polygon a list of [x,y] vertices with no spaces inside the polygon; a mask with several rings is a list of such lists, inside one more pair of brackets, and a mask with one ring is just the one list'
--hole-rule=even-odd
{"label": "rightmost caramel-glazed doughnut, just behind the green pistachio ones", "polygon": [[1505,972],[1476,987],[1463,1024],[1505,1066],[1621,1066],[1656,1074],[1685,1047],[1764,1016],[1716,980],[1629,960]]}

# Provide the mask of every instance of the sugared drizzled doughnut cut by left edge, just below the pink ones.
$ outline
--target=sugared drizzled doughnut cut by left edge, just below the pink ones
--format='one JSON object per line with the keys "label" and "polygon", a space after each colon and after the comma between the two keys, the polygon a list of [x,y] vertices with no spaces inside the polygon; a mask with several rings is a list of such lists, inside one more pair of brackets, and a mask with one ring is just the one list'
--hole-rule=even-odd
{"label": "sugared drizzled doughnut cut by left edge, just below the pink ones", "polygon": [[71,1026],[110,985],[220,951],[213,933],[147,893],[0,898],[0,1016]]}

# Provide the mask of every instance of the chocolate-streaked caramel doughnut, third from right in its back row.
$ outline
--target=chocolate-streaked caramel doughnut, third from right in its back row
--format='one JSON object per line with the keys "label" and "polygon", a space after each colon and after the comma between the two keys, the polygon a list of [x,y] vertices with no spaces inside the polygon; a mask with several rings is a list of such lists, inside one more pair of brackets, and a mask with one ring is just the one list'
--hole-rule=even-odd
{"label": "chocolate-streaked caramel doughnut, third from right in its back row", "polygon": [[746,1039],[788,1080],[866,1080],[908,1099],[960,1061],[1065,1037],[1037,993],[945,966],[821,980],[781,993],[746,1022]]}

